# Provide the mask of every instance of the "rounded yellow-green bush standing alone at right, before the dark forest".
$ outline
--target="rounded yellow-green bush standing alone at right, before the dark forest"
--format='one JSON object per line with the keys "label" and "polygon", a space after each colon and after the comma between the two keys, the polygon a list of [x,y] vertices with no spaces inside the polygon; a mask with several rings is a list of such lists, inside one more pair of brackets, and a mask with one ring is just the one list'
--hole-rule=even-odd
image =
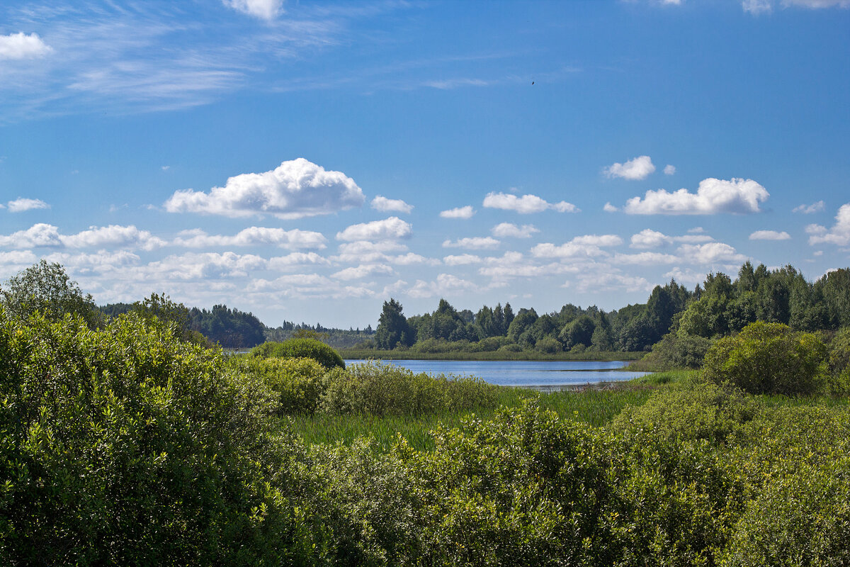
{"label": "rounded yellow-green bush standing alone at right, before the dark forest", "polygon": [[826,348],[813,333],[782,323],[751,323],[706,353],[703,376],[751,394],[813,394],[822,387]]}

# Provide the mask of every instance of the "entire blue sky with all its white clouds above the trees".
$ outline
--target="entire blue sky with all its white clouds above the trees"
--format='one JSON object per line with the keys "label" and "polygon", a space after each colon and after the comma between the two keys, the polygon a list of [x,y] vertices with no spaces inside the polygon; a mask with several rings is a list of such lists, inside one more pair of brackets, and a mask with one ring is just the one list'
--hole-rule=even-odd
{"label": "entire blue sky with all its white clouds above the trees", "polygon": [[850,252],[850,1],[3,3],[0,279],[270,326]]}

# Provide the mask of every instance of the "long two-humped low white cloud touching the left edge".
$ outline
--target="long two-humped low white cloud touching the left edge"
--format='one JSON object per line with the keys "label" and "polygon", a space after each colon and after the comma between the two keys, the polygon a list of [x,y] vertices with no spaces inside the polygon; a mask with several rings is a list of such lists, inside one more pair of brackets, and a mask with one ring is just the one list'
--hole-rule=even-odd
{"label": "long two-humped low white cloud touching the left edge", "polygon": [[10,248],[116,246],[153,250],[165,244],[166,241],[151,235],[148,230],[139,230],[132,224],[130,226],[116,224],[104,227],[93,226],[76,235],[62,235],[54,225],[39,223],[11,235],[0,235],[0,246]]}

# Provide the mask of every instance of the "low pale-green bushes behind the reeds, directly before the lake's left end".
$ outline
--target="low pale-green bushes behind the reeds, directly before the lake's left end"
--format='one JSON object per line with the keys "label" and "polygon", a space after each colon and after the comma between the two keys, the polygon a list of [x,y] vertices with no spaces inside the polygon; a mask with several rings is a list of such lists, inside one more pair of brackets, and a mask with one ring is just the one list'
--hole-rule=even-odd
{"label": "low pale-green bushes behind the reeds, directly before the lake's left end", "polygon": [[498,386],[476,377],[431,377],[400,366],[367,362],[326,374],[320,411],[417,416],[494,407]]}

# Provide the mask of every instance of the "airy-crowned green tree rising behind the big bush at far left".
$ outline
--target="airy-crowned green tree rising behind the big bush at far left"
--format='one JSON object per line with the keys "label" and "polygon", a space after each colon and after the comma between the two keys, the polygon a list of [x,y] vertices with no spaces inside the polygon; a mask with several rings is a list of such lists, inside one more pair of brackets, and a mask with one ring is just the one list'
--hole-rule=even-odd
{"label": "airy-crowned green tree rising behind the big bush at far left", "polygon": [[89,328],[103,322],[91,294],[83,293],[61,264],[44,259],[9,278],[0,287],[0,303],[8,315],[21,320],[41,313],[54,321],[66,314],[79,315]]}

